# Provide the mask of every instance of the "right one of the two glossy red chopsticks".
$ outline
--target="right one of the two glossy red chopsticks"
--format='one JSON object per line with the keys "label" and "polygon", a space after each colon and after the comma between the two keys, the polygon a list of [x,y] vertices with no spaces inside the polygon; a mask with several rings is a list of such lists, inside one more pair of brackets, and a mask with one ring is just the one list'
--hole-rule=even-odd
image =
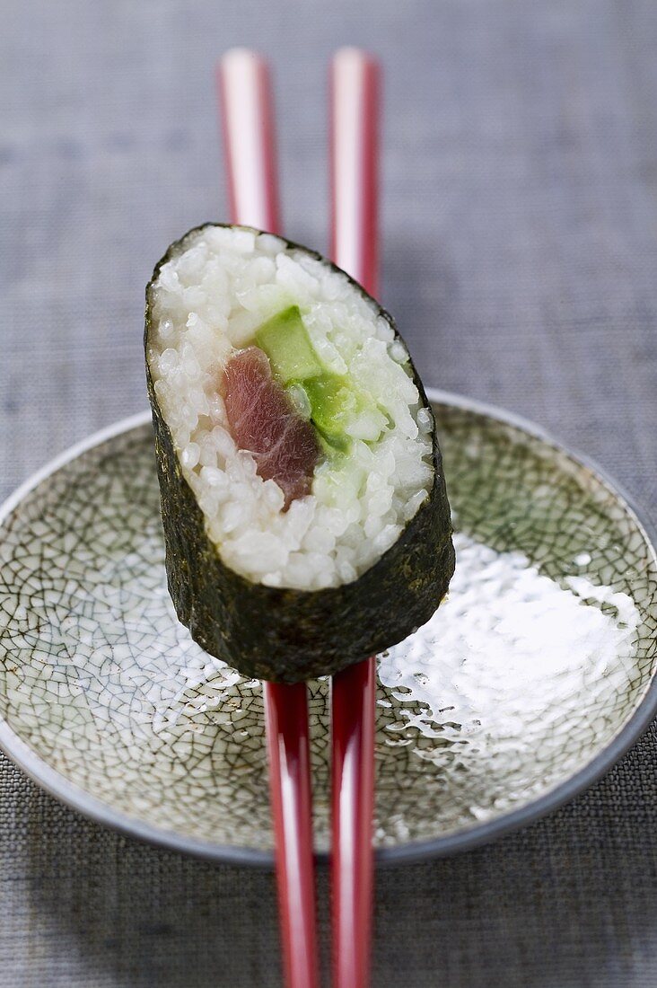
{"label": "right one of the two glossy red chopsticks", "polygon": [[[366,52],[335,54],[330,102],[331,256],[374,294],[379,72]],[[366,988],[370,980],[375,689],[373,657],[333,677],[334,988]]]}

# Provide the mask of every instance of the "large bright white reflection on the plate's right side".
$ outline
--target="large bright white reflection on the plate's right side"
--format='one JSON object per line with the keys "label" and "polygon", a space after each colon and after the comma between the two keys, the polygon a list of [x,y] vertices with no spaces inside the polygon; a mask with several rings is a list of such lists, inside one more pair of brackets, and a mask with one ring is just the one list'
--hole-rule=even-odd
{"label": "large bright white reflection on the plate's right side", "polygon": [[[454,545],[449,598],[380,657],[389,694],[379,704],[396,706],[387,744],[467,774],[472,794],[485,777],[485,801],[469,810],[487,819],[541,787],[528,773],[536,749],[545,756],[562,748],[564,723],[614,698],[635,653],[639,614],[627,594],[586,576],[560,585],[521,552],[496,552],[466,535]],[[575,563],[585,565],[584,555]],[[577,766],[576,752],[569,762]],[[504,792],[491,802],[497,771]]]}

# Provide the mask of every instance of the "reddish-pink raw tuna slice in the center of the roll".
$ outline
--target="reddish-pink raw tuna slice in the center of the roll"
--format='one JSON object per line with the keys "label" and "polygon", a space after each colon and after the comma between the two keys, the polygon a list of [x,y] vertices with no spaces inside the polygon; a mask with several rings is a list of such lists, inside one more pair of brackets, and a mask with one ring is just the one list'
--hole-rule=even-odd
{"label": "reddish-pink raw tuna slice in the center of the roll", "polygon": [[261,477],[276,480],[285,508],[309,494],[319,456],[314,429],[299,416],[258,347],[240,350],[228,361],[223,399],[235,443],[253,453]]}

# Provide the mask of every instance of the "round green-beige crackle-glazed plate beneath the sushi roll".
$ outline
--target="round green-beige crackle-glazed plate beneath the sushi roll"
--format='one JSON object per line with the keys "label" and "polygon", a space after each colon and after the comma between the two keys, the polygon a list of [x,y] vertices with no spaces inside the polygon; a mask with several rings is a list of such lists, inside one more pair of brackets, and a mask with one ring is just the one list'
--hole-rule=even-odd
{"label": "round green-beige crackle-glazed plate beneath the sushi roll", "polygon": [[[431,397],[456,573],[436,616],[379,656],[381,861],[534,819],[608,769],[657,707],[657,559],[626,497],[534,427]],[[328,689],[311,684],[320,852]],[[0,513],[0,744],[97,820],[272,862],[261,687],[176,620],[146,415],[60,457]]]}

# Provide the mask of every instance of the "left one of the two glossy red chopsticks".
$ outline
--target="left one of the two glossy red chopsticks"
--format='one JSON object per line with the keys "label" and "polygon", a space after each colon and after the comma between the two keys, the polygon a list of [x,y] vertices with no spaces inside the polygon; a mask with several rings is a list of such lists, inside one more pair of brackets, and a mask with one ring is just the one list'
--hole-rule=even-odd
{"label": "left one of the two glossy red chopsticks", "polygon": [[[246,48],[221,59],[217,86],[230,215],[279,231],[274,115],[266,62]],[[288,988],[316,988],[314,860],[305,684],[263,684],[279,914]]]}

